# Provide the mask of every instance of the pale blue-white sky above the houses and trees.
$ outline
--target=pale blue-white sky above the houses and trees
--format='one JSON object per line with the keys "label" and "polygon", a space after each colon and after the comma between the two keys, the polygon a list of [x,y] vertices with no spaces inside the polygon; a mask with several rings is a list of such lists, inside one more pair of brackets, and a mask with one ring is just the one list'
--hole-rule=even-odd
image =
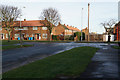
{"label": "pale blue-white sky above the houses and trees", "polygon": [[[12,5],[22,9],[22,20],[39,20],[43,9],[52,7],[61,15],[61,23],[84,29],[88,26],[90,3],[90,32],[105,32],[100,23],[118,19],[118,0],[1,0],[0,5]],[[25,7],[25,8],[23,8]],[[83,11],[82,11],[83,8]],[[83,16],[82,16],[83,14]],[[81,18],[83,17],[83,18]],[[81,21],[83,20],[83,21]],[[82,23],[83,22],[83,23]]]}

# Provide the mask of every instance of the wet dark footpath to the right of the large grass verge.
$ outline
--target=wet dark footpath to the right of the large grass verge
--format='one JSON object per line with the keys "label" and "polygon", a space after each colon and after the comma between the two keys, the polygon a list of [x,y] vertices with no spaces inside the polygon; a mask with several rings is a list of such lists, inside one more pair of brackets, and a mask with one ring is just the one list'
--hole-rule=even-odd
{"label": "wet dark footpath to the right of the large grass verge", "polygon": [[98,50],[80,78],[120,80],[120,49],[113,49],[108,45]]}

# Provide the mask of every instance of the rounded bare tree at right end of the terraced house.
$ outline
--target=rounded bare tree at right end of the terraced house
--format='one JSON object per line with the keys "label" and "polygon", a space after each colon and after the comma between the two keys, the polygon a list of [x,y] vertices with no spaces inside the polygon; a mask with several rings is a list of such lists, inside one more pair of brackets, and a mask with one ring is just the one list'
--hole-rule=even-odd
{"label": "rounded bare tree at right end of the terraced house", "polygon": [[46,20],[43,21],[42,23],[47,26],[49,32],[50,32],[50,41],[51,41],[51,33],[52,33],[52,28],[61,21],[60,15],[58,11],[54,8],[48,8],[44,9],[43,12],[41,13],[40,19]]}

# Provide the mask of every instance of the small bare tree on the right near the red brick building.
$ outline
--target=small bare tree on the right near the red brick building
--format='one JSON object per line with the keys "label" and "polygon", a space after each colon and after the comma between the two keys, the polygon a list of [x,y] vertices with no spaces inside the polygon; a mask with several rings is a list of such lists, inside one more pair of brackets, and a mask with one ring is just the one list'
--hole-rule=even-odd
{"label": "small bare tree on the right near the red brick building", "polygon": [[108,34],[108,42],[110,42],[110,34],[113,33],[113,27],[116,24],[115,19],[110,19],[108,22],[103,22],[101,25],[105,28],[107,34]]}

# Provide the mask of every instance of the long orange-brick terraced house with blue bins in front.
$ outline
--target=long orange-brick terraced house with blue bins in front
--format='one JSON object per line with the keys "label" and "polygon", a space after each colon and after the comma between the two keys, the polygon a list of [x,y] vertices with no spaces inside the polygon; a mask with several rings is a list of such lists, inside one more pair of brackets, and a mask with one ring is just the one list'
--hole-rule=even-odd
{"label": "long orange-brick terraced house with blue bins in front", "polygon": [[[42,21],[46,22],[45,20],[29,20],[21,21],[21,28],[20,28],[20,21],[14,21],[13,30],[11,32],[11,39],[12,40],[19,40],[20,38],[20,29],[22,33],[23,40],[49,40],[49,30]],[[4,29],[5,27],[2,26],[0,29],[1,39],[7,40],[8,34],[7,31]]]}

